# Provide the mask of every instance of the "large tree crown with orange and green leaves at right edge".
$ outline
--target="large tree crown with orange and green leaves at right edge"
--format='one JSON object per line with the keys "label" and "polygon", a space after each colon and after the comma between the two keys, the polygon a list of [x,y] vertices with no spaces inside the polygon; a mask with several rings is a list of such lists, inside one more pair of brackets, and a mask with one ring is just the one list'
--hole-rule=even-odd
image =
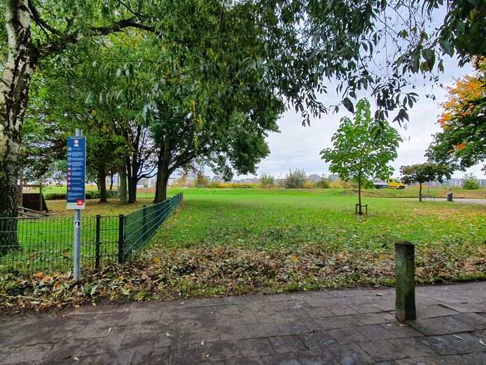
{"label": "large tree crown with orange and green leaves at right edge", "polygon": [[[438,123],[443,128],[426,156],[465,170],[486,159],[486,60],[479,58],[473,76],[464,76],[447,88]],[[483,170],[486,166],[483,167]]]}

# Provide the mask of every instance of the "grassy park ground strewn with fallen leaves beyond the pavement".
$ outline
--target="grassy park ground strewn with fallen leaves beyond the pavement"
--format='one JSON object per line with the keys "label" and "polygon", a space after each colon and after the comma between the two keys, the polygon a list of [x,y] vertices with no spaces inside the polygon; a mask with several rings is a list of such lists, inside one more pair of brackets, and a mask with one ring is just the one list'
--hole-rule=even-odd
{"label": "grassy park ground strewn with fallen leaves beyond the pavement", "polygon": [[[403,240],[415,244],[419,283],[486,278],[484,205],[385,198],[406,189],[366,191],[373,195],[364,199],[368,215],[356,216],[352,190],[172,189],[169,195],[179,191],[181,207],[131,263],[87,270],[79,283],[69,273],[4,275],[4,310],[393,285],[394,243]],[[88,201],[85,214],[120,214],[150,202]],[[49,202],[53,214],[71,214],[64,204]]]}

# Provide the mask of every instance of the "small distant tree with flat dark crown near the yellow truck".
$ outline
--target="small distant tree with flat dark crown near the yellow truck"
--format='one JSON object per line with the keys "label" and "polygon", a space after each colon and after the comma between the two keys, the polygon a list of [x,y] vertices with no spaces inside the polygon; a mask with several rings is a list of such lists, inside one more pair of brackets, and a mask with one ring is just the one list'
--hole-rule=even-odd
{"label": "small distant tree with flat dark crown near the yellow truck", "polygon": [[419,163],[400,167],[404,184],[419,183],[419,202],[422,202],[422,184],[427,181],[443,181],[443,177],[450,179],[453,170],[448,165],[438,163]]}

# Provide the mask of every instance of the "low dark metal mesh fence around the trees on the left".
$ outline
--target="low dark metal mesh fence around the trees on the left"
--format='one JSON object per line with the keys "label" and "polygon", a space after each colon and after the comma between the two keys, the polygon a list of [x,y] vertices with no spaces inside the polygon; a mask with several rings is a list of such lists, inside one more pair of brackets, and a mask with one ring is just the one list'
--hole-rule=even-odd
{"label": "low dark metal mesh fence around the trees on the left", "polygon": [[[182,193],[124,216],[85,216],[81,221],[81,269],[124,263],[153,237],[179,205]],[[70,271],[74,218],[0,217],[0,273]]]}

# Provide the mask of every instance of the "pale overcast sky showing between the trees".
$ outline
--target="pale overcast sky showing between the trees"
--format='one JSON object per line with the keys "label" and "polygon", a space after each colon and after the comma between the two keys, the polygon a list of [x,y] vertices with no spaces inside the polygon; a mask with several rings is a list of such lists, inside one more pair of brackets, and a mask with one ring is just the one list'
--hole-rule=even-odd
{"label": "pale overcast sky showing between the trees", "polygon": [[[440,131],[437,119],[442,110],[440,104],[446,99],[445,86],[453,85],[454,77],[472,72],[471,67],[459,69],[457,62],[453,60],[445,63],[445,69],[445,74],[440,77],[443,87],[436,85],[431,88],[430,85],[424,86],[423,81],[417,82],[415,92],[419,94],[419,102],[409,111],[410,123],[407,124],[407,128],[401,128],[398,123],[392,123],[403,138],[398,149],[398,158],[390,163],[395,169],[395,177],[400,176],[399,169],[402,165],[425,162],[424,153],[432,141],[431,135]],[[435,100],[426,97],[431,92],[435,95]],[[333,104],[337,103],[338,96],[325,95],[322,100]],[[373,109],[373,101],[371,104]],[[393,119],[394,114],[390,115],[393,115],[391,117]],[[352,117],[352,114],[341,107],[338,114],[321,116],[320,119],[312,120],[310,126],[303,127],[302,118],[297,113],[293,111],[284,113],[278,123],[281,132],[272,133],[268,137],[270,156],[258,165],[258,176],[262,172],[270,172],[276,178],[285,177],[289,169],[305,170],[307,174],[328,175],[329,164],[321,160],[319,152],[332,146],[331,137],[338,130],[339,120],[343,116]],[[476,165],[466,172],[457,171],[452,176],[463,177],[464,174],[472,172],[475,177],[485,179],[486,176],[481,171],[481,166]],[[248,177],[250,176],[248,175]]]}

